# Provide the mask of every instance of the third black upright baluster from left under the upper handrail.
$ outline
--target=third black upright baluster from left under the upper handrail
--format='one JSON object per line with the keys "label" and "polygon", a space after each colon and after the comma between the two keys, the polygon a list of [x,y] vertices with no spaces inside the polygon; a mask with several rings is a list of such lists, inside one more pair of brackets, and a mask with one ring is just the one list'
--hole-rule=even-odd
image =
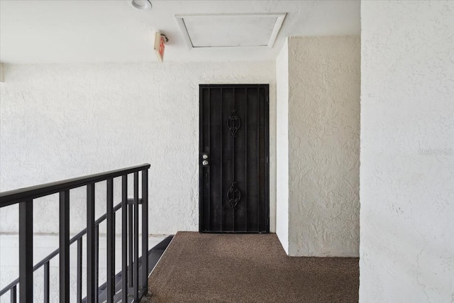
{"label": "third black upright baluster from left under the upper handrail", "polygon": [[87,184],[87,302],[94,303],[95,287],[94,256],[94,183]]}

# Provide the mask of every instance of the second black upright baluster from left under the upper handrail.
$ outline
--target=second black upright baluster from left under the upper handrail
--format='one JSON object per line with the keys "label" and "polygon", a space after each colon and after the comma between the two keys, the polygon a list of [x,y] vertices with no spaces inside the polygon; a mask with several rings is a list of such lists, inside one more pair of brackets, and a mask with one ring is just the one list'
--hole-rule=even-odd
{"label": "second black upright baluster from left under the upper handrail", "polygon": [[60,302],[70,302],[70,191],[60,192]]}

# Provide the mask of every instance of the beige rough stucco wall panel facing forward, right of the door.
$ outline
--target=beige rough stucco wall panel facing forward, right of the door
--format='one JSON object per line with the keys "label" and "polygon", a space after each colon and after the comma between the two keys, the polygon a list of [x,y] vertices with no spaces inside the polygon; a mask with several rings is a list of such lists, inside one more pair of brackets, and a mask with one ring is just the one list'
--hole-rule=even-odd
{"label": "beige rough stucco wall panel facing forward, right of the door", "polygon": [[360,38],[289,38],[289,255],[358,256]]}

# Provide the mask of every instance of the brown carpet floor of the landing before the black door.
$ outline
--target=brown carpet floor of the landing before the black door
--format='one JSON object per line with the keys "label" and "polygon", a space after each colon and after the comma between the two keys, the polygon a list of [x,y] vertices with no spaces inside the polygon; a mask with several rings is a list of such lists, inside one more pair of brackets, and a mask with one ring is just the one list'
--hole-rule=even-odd
{"label": "brown carpet floor of the landing before the black door", "polygon": [[179,232],[143,302],[358,302],[358,258],[288,257],[277,236]]}

